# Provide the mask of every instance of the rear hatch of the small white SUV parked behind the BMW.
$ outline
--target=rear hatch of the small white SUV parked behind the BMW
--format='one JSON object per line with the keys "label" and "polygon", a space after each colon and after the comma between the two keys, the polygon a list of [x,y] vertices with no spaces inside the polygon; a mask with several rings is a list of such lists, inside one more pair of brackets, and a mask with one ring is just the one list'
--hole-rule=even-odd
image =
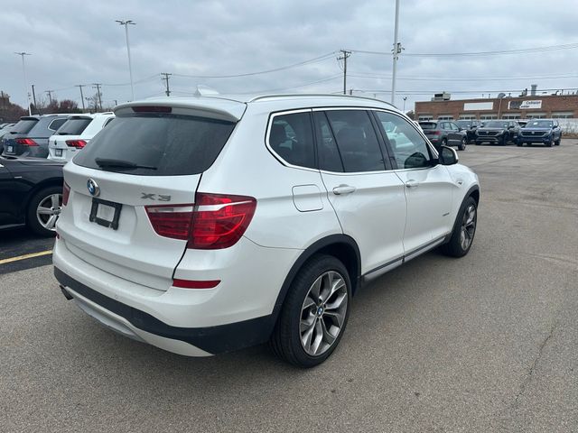
{"label": "rear hatch of the small white SUV parked behind the BMW", "polygon": [[73,115],[48,140],[48,157],[51,160],[70,161],[88,143],[80,134],[89,126],[93,118],[88,115]]}

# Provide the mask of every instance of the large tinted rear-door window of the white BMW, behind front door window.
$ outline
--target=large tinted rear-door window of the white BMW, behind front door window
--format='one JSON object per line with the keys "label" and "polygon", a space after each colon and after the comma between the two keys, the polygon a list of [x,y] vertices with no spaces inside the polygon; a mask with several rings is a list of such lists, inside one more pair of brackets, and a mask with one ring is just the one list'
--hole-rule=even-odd
{"label": "large tinted rear-door window of the white BMW, behind front door window", "polygon": [[386,170],[369,115],[363,110],[326,112],[347,172]]}

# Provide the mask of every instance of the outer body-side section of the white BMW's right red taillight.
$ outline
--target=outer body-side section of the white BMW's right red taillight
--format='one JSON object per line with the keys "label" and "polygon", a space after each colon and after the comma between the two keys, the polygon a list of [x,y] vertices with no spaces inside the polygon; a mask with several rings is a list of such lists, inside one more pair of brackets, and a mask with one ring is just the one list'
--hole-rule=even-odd
{"label": "outer body-side section of the white BMW's right red taillight", "polygon": [[217,250],[236,244],[247,230],[256,199],[198,192],[188,248]]}

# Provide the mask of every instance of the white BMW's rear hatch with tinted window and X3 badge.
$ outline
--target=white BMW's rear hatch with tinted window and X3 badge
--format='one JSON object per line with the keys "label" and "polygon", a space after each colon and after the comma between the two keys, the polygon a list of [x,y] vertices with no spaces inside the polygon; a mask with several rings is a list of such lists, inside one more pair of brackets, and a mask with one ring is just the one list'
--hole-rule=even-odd
{"label": "white BMW's rear hatch with tinted window and X3 badge", "polygon": [[172,218],[191,215],[202,172],[244,111],[237,104],[237,115],[136,103],[117,109],[115,122],[64,170],[70,198],[59,233],[70,252],[125,280],[167,290],[187,246],[186,235],[171,234]]}

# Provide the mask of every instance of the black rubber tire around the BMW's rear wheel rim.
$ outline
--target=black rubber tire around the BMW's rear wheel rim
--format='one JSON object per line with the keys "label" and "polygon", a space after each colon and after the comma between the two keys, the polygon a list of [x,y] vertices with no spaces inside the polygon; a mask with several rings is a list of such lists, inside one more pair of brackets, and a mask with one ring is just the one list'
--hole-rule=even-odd
{"label": "black rubber tire around the BMW's rear wheel rim", "polygon": [[[345,293],[347,293],[345,318],[342,320],[339,334],[329,348],[325,349],[321,355],[310,355],[305,351],[303,347],[304,343],[302,344],[301,341],[300,326],[303,315],[303,302],[308,297],[313,282],[326,272],[337,272],[345,282]],[[273,335],[269,341],[269,345],[275,355],[301,368],[311,368],[315,365],[322,364],[322,362],[333,353],[337,345],[339,345],[341,336],[343,336],[345,332],[345,327],[350,316],[350,300],[350,275],[343,263],[331,255],[314,255],[297,273],[284,299],[283,308],[281,309],[279,318],[277,318]],[[314,318],[313,320],[316,319],[317,318]],[[323,318],[319,320],[323,320]]]}

